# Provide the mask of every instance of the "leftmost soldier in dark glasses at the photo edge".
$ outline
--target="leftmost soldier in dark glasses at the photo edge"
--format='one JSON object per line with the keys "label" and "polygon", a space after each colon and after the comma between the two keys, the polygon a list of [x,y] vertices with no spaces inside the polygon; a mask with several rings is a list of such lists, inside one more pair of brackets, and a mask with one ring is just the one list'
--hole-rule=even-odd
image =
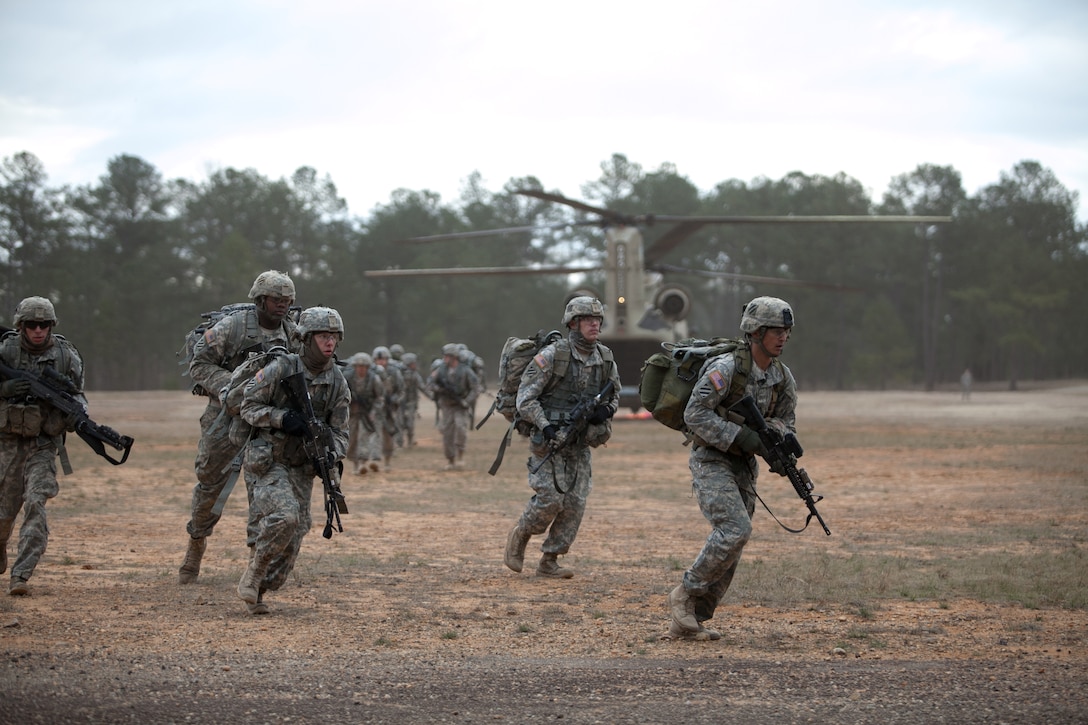
{"label": "leftmost soldier in dark glasses at the photo edge", "polygon": [[[14,330],[0,339],[0,359],[8,367],[28,370],[38,377],[52,368],[72,383],[74,396],[84,405],[83,358],[75,345],[53,334],[57,312],[45,297],[27,297],[15,307]],[[73,428],[67,416],[57,408],[28,398],[30,382],[14,378],[0,383],[0,574],[8,570],[8,539],[18,509],[23,526],[18,530],[18,551],[11,567],[8,593],[29,593],[26,582],[38,560],[46,553],[49,526],[46,502],[60,493],[57,482],[57,456],[67,468],[64,431]]]}

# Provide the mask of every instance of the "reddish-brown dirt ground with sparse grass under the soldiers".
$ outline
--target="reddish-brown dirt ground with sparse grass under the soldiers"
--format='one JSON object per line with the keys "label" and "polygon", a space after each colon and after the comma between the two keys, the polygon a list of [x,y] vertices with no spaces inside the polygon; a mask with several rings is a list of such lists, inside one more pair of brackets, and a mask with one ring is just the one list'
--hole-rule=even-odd
{"label": "reddish-brown dirt ground with sparse grass under the soldiers", "polygon": [[[654,421],[618,420],[595,452],[564,560],[577,576],[555,581],[532,574],[536,539],[526,572],[503,566],[529,496],[523,443],[489,476],[504,431],[490,421],[468,469],[443,471],[424,407],[419,445],[390,471],[345,477],[344,532],[325,540],[318,520],[271,614],[251,616],[235,591],[240,487],[199,581],[177,583],[201,401],[92,393],[91,416],[136,445],[113,467],[70,441],[76,470],[49,505],[30,594],[0,594],[0,722],[1088,722],[1083,600],[904,595],[894,570],[879,597],[816,587],[819,568],[759,576],[790,557],[841,572],[987,548],[1064,546],[1083,562],[1088,384],[1025,388],[969,402],[802,394],[801,463],[832,534],[788,533],[757,508],[713,642],[659,638],[708,527],[688,450]],[[803,520],[784,479],[764,472],[759,487],[787,524]],[[1017,538],[1040,527],[1052,533]]]}

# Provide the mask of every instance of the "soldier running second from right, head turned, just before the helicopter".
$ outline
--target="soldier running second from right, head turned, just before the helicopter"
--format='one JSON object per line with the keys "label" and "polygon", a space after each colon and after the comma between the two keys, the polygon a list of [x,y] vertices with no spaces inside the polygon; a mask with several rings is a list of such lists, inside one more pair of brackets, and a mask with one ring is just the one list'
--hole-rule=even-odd
{"label": "soldier running second from right, head turned, just before the helicopter", "polygon": [[[616,361],[611,351],[597,342],[604,314],[598,299],[571,299],[562,315],[562,324],[569,330],[567,339],[542,347],[521,376],[517,405],[518,415],[532,427],[530,471],[549,453],[553,455],[535,474],[529,474],[534,495],[506,541],[504,562],[515,572],[523,566],[529,539],[547,531],[536,575],[560,579],[574,576],[559,566],[557,557],[574,542],[593,488],[590,448],[611,437],[611,417],[619,408]],[[582,400],[599,393],[609,380],[613,393],[590,414],[584,432],[554,450],[568,414]]]}

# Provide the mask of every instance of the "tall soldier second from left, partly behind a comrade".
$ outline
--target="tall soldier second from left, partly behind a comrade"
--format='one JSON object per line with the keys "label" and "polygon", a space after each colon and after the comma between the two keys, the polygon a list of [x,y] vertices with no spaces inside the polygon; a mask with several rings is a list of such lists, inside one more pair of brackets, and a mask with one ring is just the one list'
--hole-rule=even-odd
{"label": "tall soldier second from left, partly behind a comrade", "polygon": [[[295,283],[283,272],[269,270],[254,280],[249,290],[254,307],[227,315],[205,332],[189,364],[195,392],[208,396],[200,416],[200,442],[197,444],[197,484],[193,488],[191,516],[185,528],[189,533],[185,561],[177,573],[178,583],[191,583],[200,574],[207,538],[219,523],[242,460],[244,441],[232,442],[230,416],[220,400],[231,381],[231,373],[250,353],[281,346],[296,349],[295,322],[288,317],[295,302]],[[246,491],[251,501],[252,492]],[[246,527],[246,545],[252,546],[256,531]]]}

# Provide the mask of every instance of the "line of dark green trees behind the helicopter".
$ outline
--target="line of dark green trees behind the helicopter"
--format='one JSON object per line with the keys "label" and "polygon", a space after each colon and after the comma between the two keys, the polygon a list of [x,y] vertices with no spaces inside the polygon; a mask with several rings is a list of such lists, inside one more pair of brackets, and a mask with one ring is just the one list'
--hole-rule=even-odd
{"label": "line of dark green trees behind the helicopter", "polygon": [[[915,224],[710,225],[664,260],[695,300],[704,335],[737,333],[740,305],[789,299],[798,327],[788,361],[806,389],[934,389],[969,367],[979,381],[1088,377],[1088,283],[1077,195],[1036,161],[976,195],[951,167],[897,176],[879,200],[845,174],[728,180],[701,192],[670,164],[645,171],[620,155],[582,199],[627,213],[951,214]],[[87,359],[90,390],[186,384],[176,351],[200,314],[244,302],[265,269],[287,271],[298,303],[336,307],[342,357],[400,343],[424,360],[457,341],[493,368],[508,335],[558,327],[571,282],[554,275],[370,279],[390,267],[504,267],[601,260],[603,238],[561,205],[512,194],[535,177],[460,198],[397,189],[367,217],[349,213],[333,181],[301,168],[289,179],[223,169],[201,182],[166,180],[133,156],[86,186],[55,187],[29,152],[0,164],[2,311],[27,295],[57,305],[58,332]],[[569,196],[579,196],[562,189]],[[398,244],[426,234],[539,226],[511,234]],[[644,230],[651,244],[665,230]],[[715,272],[825,286],[753,285]],[[603,290],[603,280],[585,284]],[[582,282],[579,282],[582,284]],[[829,290],[827,285],[839,285]],[[634,382],[634,381],[625,381]]]}

